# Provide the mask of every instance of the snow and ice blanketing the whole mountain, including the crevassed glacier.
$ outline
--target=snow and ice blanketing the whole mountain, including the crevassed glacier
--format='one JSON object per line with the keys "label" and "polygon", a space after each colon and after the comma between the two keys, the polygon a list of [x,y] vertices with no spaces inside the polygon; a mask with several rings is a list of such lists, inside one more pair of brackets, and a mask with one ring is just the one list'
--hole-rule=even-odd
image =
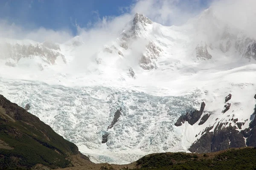
{"label": "snow and ice blanketing the whole mountain, including the crevassed glacier", "polygon": [[[11,67],[2,58],[0,94],[23,108],[29,103],[30,113],[93,162],[127,164],[148,153],[189,152],[207,127],[217,122],[235,125],[232,117],[244,122],[241,129],[247,128],[255,105],[256,60],[249,61],[244,51],[253,40],[231,28],[232,35],[226,35],[226,27],[210,10],[180,27],[138,17],[86,62],[76,59],[83,48],[79,37],[53,50],[67,63],[61,57],[47,64],[30,56],[13,60],[17,66]],[[208,20],[212,25],[203,24]],[[228,94],[231,107],[223,114]],[[207,122],[174,125],[180,115],[199,110],[201,102],[206,103],[203,115],[211,114]],[[108,129],[119,108],[121,116]],[[102,144],[104,134],[108,142]]]}

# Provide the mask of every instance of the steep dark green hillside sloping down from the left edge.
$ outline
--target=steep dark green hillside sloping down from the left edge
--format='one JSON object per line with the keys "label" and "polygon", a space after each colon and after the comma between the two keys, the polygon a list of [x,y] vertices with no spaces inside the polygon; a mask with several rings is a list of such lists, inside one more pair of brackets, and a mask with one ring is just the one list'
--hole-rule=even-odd
{"label": "steep dark green hillside sloping down from the left edge", "polygon": [[74,155],[89,160],[49,125],[0,95],[0,169],[70,167]]}

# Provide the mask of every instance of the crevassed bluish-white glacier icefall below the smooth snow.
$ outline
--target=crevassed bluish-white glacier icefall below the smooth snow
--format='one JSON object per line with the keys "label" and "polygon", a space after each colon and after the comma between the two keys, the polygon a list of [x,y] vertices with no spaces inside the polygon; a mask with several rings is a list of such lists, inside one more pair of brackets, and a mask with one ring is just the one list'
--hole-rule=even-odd
{"label": "crevassed bluish-white glacier icefall below the smooth snow", "polygon": [[[200,95],[198,91],[185,96],[154,96],[122,88],[71,88],[11,79],[1,79],[0,89],[22,107],[29,103],[31,113],[77,144],[92,160],[119,164],[151,152],[171,151],[174,147],[183,150],[174,123],[198,104]],[[122,114],[108,130],[108,142],[102,144],[102,134],[120,107]]]}

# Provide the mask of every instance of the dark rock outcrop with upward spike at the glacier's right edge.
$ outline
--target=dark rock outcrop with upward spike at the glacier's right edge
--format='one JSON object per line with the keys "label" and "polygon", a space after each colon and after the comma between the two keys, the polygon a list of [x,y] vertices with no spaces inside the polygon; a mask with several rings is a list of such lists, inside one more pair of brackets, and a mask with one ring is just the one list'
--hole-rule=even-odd
{"label": "dark rock outcrop with upward spike at the glacier's right edge", "polygon": [[204,107],[205,107],[205,103],[202,102],[200,111],[195,110],[180,116],[177,122],[175,123],[175,126],[181,126],[182,123],[184,123],[185,121],[187,121],[190,125],[194,125],[200,119],[204,111]]}

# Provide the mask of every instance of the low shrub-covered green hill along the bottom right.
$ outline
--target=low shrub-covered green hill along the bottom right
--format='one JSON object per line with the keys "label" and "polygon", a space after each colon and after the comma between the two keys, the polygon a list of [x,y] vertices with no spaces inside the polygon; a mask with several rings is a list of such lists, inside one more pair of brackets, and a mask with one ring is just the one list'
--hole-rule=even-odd
{"label": "low shrub-covered green hill along the bottom right", "polygon": [[157,153],[137,161],[140,170],[256,170],[256,147],[216,153]]}

